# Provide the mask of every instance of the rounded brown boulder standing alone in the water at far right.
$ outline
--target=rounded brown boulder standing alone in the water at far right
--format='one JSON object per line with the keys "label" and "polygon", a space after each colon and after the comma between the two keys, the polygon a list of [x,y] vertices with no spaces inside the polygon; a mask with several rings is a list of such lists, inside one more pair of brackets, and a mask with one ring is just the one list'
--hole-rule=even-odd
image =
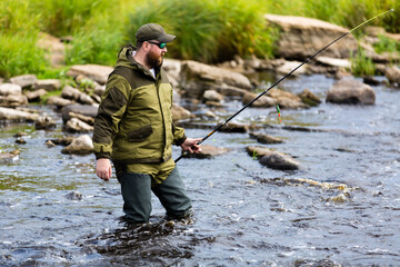
{"label": "rounded brown boulder standing alone in the water at far right", "polygon": [[328,90],[327,102],[374,105],[373,89],[362,81],[342,79],[332,85]]}

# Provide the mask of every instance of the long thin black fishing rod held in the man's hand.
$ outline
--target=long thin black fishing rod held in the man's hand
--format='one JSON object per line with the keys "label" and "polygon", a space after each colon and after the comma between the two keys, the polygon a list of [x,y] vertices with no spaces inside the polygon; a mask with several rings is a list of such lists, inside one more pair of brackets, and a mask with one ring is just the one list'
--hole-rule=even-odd
{"label": "long thin black fishing rod held in the man's hand", "polygon": [[[329,48],[330,46],[332,46],[334,42],[339,41],[340,39],[344,38],[346,36],[350,34],[351,32],[356,31],[357,29],[363,27],[364,24],[371,22],[372,20],[384,16],[389,12],[393,12],[394,9],[390,9],[387,10],[380,14],[374,16],[373,18],[366,20],[364,22],[356,26],[354,28],[352,28],[351,30],[349,30],[348,32],[344,32],[343,34],[341,34],[340,37],[338,37],[337,39],[334,39],[333,41],[331,41],[330,43],[328,43],[327,46],[324,46],[322,49],[320,49],[319,51],[317,51],[314,55],[312,55],[311,57],[309,57],[308,59],[306,59],[302,63],[300,63],[298,67],[296,67],[294,69],[292,69],[289,73],[287,73],[286,76],[283,76],[281,79],[279,79],[276,83],[273,83],[272,86],[270,86],[268,89],[266,89],[263,92],[261,92],[260,95],[258,95],[253,100],[251,100],[249,103],[247,103],[246,106],[243,106],[241,109],[239,109],[234,115],[232,115],[231,117],[229,117],[223,123],[218,125],[212,131],[210,131],[206,137],[203,137],[200,141],[198,141],[198,145],[202,144],[203,141],[206,141],[210,136],[212,136],[216,131],[220,130],[223,126],[226,126],[229,121],[231,121],[234,117],[237,117],[241,111],[243,111],[244,109],[247,109],[248,107],[250,107],[253,102],[256,102],[260,97],[262,97],[263,95],[266,95],[269,90],[271,90],[272,88],[274,88],[276,86],[278,86],[281,81],[283,81],[286,78],[288,78],[289,76],[291,76],[294,71],[297,71],[299,68],[301,68],[303,65],[306,65],[307,62],[309,62],[310,60],[312,60],[313,58],[316,58],[319,53],[321,53],[322,51],[324,51],[327,48]],[[279,113],[279,106],[277,105],[277,110]],[[178,162],[181,158],[183,158],[183,156],[187,155],[187,151],[184,151],[183,154],[181,154],[181,156],[179,156],[176,159],[176,162]]]}

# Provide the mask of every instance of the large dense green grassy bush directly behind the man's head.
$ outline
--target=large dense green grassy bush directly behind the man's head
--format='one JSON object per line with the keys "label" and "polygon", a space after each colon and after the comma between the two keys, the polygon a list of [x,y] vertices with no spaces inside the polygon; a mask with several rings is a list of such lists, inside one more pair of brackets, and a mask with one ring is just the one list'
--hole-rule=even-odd
{"label": "large dense green grassy bush directly behind the man's head", "polygon": [[216,62],[234,55],[270,57],[271,41],[259,10],[240,0],[149,1],[130,14],[128,38],[134,42],[141,24],[156,22],[178,37],[169,48],[174,58]]}

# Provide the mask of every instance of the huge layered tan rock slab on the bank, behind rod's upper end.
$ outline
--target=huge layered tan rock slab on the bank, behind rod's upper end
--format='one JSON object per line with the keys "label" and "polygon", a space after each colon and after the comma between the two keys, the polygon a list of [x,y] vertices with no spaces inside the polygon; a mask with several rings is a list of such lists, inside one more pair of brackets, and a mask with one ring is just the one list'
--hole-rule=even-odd
{"label": "huge layered tan rock slab on the bank, behind rod's upper end", "polygon": [[[317,19],[279,14],[266,14],[264,18],[282,30],[277,47],[278,55],[283,58],[303,60],[348,32],[348,29]],[[354,37],[348,36],[323,53],[332,58],[349,58],[357,49]]]}

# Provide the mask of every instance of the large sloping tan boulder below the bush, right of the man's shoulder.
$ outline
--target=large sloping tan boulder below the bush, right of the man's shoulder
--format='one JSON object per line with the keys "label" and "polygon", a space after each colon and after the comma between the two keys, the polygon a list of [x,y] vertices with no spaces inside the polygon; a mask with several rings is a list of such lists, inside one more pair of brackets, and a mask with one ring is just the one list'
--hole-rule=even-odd
{"label": "large sloping tan boulder below the bush, right of the man's shoulder", "polygon": [[241,73],[190,60],[182,62],[181,87],[187,97],[200,99],[206,90],[223,83],[240,89],[252,88],[250,80]]}

